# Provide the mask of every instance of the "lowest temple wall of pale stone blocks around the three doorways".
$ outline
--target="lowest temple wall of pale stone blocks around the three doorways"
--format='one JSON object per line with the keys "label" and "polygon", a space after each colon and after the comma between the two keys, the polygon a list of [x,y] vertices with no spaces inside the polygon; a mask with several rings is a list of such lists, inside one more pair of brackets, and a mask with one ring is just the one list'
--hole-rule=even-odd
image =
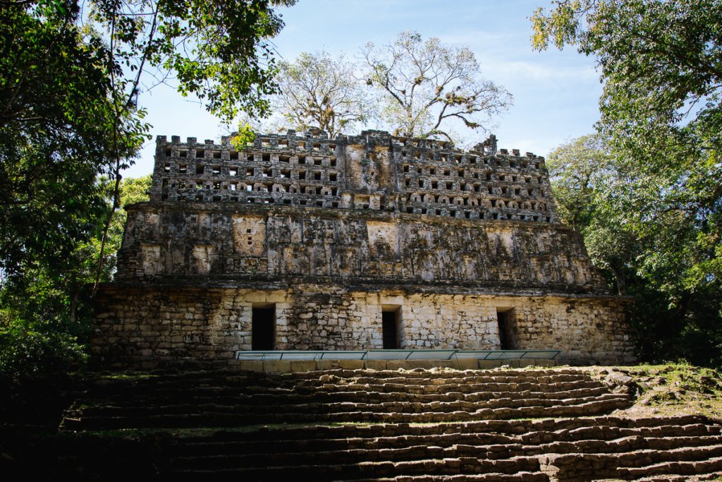
{"label": "lowest temple wall of pale stone blocks around the three doorways", "polygon": [[625,301],[612,296],[514,296],[353,291],[342,286],[105,286],[93,353],[103,363],[226,359],[252,348],[254,307],[271,307],[277,350],[383,348],[382,312],[399,313],[398,348],[500,349],[500,312],[518,350],[563,351],[573,363],[632,361]]}

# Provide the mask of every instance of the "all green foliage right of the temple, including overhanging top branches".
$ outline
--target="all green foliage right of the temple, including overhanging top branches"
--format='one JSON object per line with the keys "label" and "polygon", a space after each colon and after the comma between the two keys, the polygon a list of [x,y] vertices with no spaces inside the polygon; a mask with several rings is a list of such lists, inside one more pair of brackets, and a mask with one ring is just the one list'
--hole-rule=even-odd
{"label": "all green foliage right of the temple, including overhanging top branches", "polygon": [[722,3],[554,1],[532,24],[535,48],[575,46],[604,82],[604,161],[586,163],[578,139],[550,165],[592,259],[637,296],[640,353],[719,365]]}

